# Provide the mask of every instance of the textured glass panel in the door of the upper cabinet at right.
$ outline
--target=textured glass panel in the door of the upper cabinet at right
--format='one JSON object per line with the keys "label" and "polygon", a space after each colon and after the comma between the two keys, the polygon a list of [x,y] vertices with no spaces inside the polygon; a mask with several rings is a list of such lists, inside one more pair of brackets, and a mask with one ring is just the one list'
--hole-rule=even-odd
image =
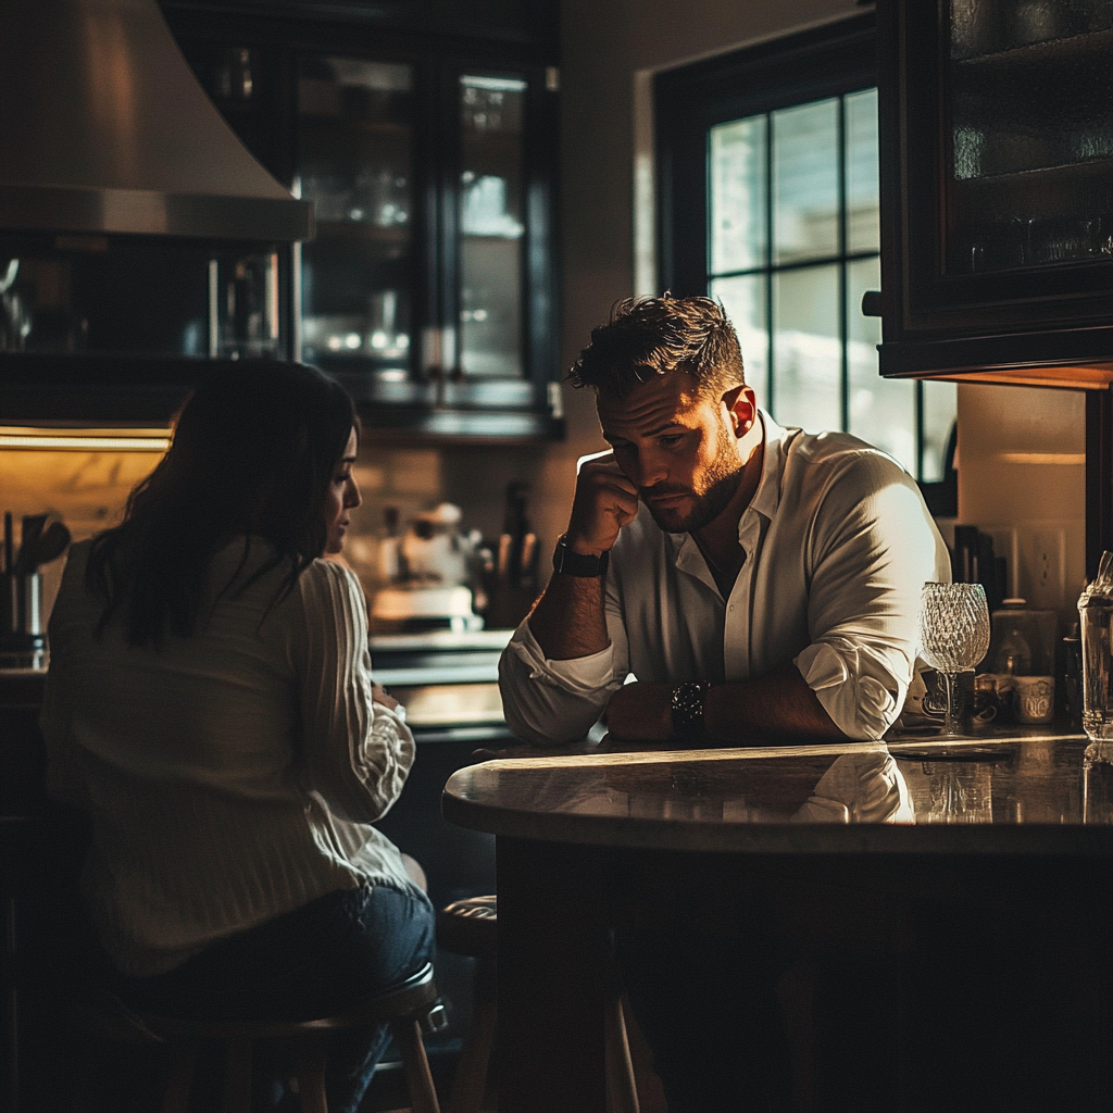
{"label": "textured glass panel in the door of the upper cabinet at right", "polygon": [[1113,3],[951,0],[949,274],[1113,258]]}

